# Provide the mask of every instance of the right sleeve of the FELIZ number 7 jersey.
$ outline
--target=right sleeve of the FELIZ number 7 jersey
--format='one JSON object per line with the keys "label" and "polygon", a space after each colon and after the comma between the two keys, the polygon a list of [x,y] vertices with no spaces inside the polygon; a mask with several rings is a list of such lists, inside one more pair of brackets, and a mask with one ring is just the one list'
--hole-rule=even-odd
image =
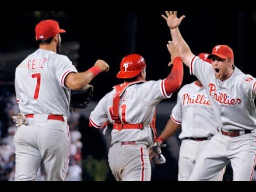
{"label": "right sleeve of the FELIZ number 7 jersey", "polygon": [[77,69],[65,55],[56,54],[54,55],[53,60],[56,63],[55,69],[57,79],[62,87],[66,87],[64,83],[66,76],[69,73],[77,73]]}

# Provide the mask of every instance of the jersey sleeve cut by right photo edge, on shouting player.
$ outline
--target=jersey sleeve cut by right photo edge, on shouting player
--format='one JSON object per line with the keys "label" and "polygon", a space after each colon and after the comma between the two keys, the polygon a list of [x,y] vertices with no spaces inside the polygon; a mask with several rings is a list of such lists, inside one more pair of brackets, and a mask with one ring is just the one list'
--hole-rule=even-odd
{"label": "jersey sleeve cut by right photo edge, on shouting player", "polygon": [[254,99],[256,97],[256,78],[251,75],[245,75],[243,80],[243,85],[245,92],[248,97]]}

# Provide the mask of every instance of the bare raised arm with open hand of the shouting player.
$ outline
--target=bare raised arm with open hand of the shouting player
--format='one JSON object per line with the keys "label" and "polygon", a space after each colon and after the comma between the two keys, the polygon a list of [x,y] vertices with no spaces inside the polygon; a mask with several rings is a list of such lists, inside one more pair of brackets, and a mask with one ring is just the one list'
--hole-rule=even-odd
{"label": "bare raised arm with open hand of the shouting player", "polygon": [[162,18],[165,19],[167,26],[171,30],[172,40],[180,47],[183,63],[189,67],[190,61],[193,59],[194,54],[191,52],[188,44],[181,36],[179,30],[180,23],[185,18],[185,15],[182,15],[180,18],[178,18],[177,11],[165,11],[165,14],[166,16],[162,15]]}

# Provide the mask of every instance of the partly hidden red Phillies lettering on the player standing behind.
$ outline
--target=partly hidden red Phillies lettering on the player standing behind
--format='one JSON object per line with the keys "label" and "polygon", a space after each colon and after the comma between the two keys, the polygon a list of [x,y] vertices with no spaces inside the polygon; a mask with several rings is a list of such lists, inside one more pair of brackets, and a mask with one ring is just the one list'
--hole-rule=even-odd
{"label": "partly hidden red Phillies lettering on the player standing behind", "polygon": [[199,104],[199,105],[206,105],[211,106],[211,102],[209,99],[206,99],[207,97],[204,94],[196,94],[196,95],[190,95],[188,93],[183,94],[183,106],[189,105],[189,104]]}

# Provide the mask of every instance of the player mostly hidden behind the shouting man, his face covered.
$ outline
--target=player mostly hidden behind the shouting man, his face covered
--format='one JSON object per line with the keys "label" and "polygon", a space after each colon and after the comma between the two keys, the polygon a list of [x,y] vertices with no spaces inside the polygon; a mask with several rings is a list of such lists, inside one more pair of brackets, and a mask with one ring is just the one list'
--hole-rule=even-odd
{"label": "player mostly hidden behind the shouting man, his face covered", "polygon": [[[199,58],[211,63],[209,54],[201,53]],[[203,149],[212,136],[217,133],[212,105],[202,83],[197,80],[184,85],[178,93],[177,104],[172,115],[161,133],[162,140],[166,140],[181,129],[179,155],[179,181],[187,181],[200,158]],[[218,172],[212,180],[222,180],[223,171]]]}

